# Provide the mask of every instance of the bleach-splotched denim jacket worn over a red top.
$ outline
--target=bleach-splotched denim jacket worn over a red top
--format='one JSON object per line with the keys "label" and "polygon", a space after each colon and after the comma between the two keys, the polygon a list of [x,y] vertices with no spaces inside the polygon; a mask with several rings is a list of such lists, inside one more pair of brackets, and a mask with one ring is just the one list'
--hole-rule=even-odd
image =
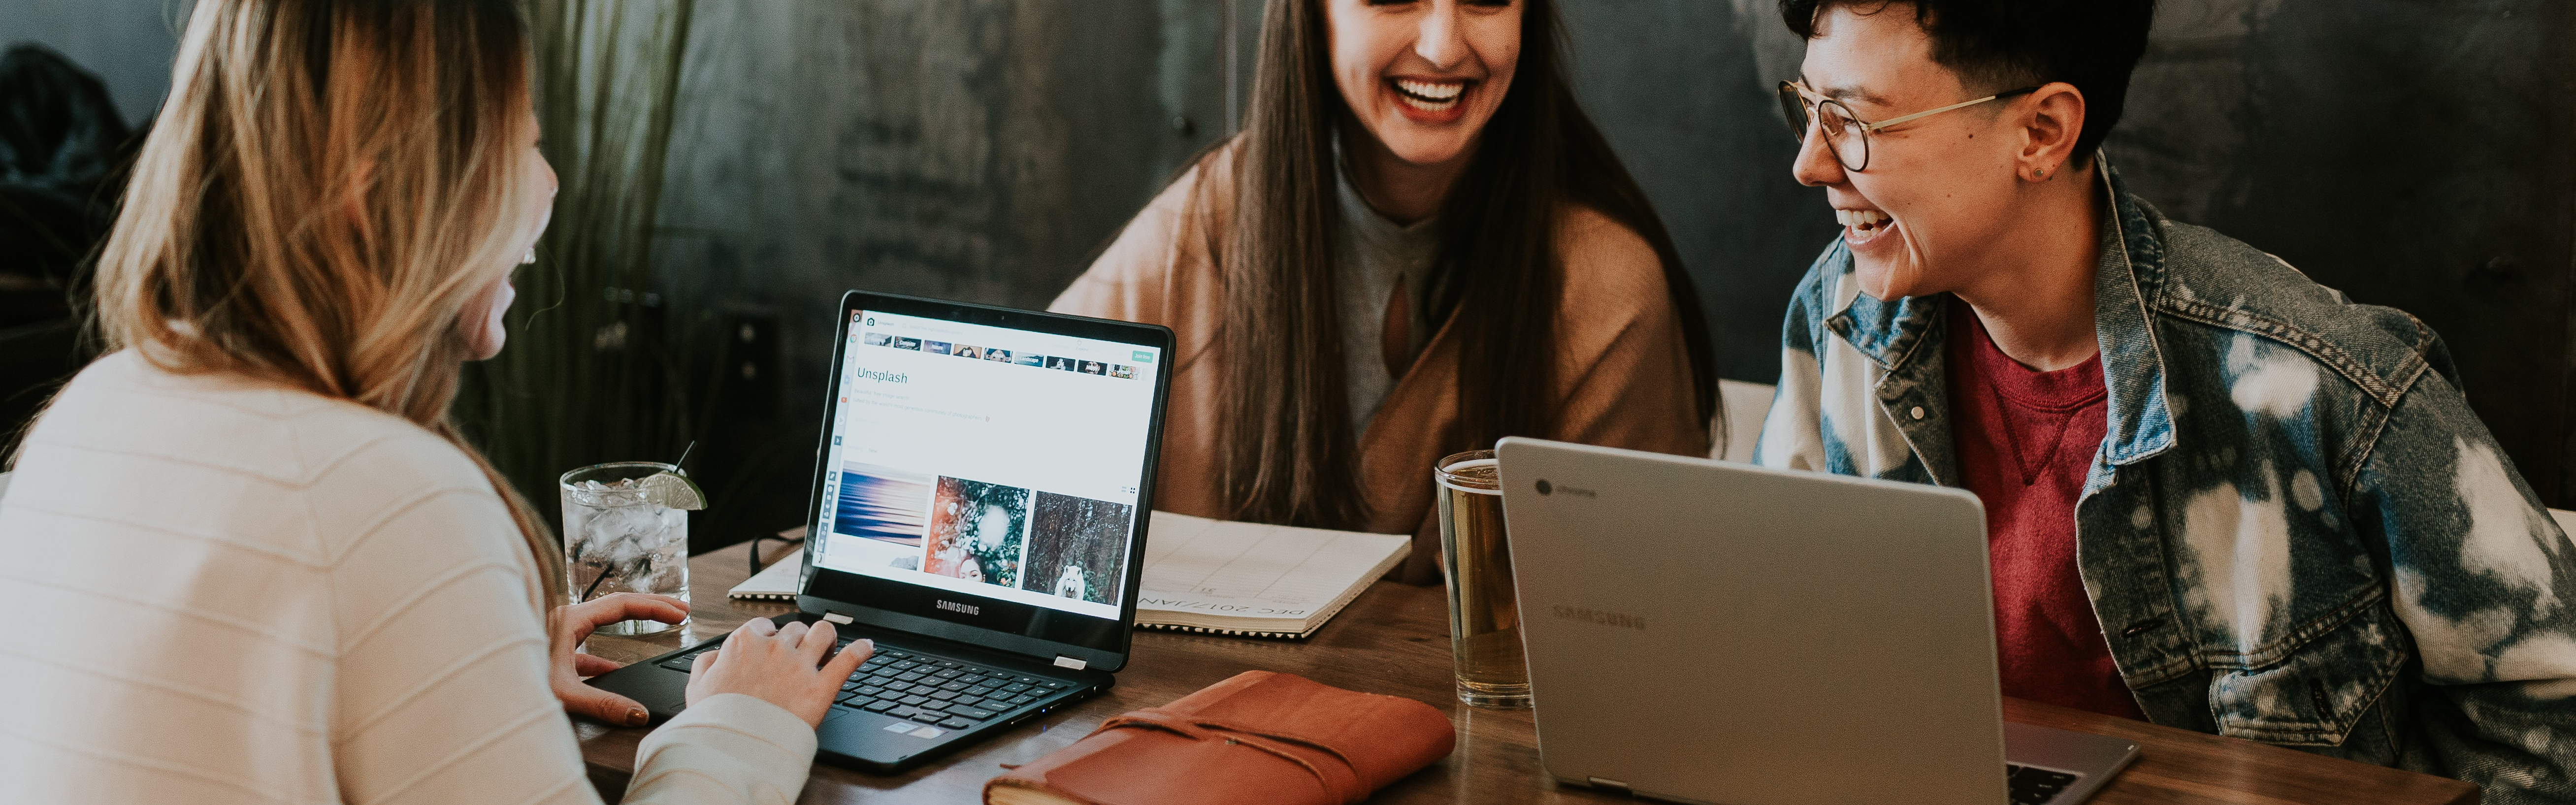
{"label": "bleach-splotched denim jacket worn over a red top", "polygon": [[[2576,800],[2576,545],[2414,316],[2166,221],[2102,165],[2110,427],[2076,566],[2154,723]],[[1945,298],[1837,239],[1780,332],[1754,460],[1958,486]]]}

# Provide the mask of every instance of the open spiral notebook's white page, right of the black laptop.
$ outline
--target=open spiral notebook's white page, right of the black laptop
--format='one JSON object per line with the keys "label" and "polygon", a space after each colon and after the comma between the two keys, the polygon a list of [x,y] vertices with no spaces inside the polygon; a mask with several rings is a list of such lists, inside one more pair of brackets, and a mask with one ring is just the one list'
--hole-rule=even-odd
{"label": "open spiral notebook's white page, right of the black laptop", "polygon": [[1154,512],[1136,625],[1306,638],[1412,553],[1409,535]]}

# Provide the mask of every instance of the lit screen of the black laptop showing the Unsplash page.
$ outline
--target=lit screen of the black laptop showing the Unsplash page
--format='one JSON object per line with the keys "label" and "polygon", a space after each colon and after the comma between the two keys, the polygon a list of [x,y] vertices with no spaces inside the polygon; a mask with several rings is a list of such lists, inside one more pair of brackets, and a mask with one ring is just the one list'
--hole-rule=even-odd
{"label": "lit screen of the black laptop showing the Unsplash page", "polygon": [[1118,617],[1159,350],[853,319],[814,563]]}

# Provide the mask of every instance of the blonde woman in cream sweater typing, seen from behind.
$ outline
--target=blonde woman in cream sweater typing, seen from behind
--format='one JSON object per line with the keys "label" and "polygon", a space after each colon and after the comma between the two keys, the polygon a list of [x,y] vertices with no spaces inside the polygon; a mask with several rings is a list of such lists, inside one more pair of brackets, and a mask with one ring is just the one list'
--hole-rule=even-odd
{"label": "blonde woman in cream sweater typing, seen from behind", "polygon": [[[685,604],[554,607],[559,545],[448,422],[546,226],[536,136],[507,0],[196,3],[98,267],[113,352],[0,502],[0,800],[598,800],[564,712],[641,710],[572,646]],[[832,646],[729,635],[626,800],[791,802],[868,653]]]}

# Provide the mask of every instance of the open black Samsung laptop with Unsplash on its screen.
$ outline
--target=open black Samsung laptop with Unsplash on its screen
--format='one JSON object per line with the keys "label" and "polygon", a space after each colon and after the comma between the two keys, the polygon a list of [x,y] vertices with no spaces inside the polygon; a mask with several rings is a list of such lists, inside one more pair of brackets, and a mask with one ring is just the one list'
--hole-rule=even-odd
{"label": "open black Samsung laptop with Unsplash on its screen", "polygon": [[[817,738],[896,772],[1097,694],[1126,666],[1172,332],[850,291],[781,625],[873,638]],[[706,640],[590,684],[683,707]]]}

